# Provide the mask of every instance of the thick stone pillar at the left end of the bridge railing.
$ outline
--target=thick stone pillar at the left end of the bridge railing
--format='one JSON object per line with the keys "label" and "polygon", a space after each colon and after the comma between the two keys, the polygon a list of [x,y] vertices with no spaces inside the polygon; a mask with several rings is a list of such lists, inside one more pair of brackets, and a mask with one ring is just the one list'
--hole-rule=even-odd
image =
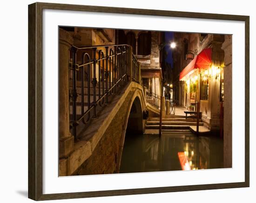
{"label": "thick stone pillar at the left end of the bridge railing", "polygon": [[68,32],[59,29],[59,158],[67,157],[74,149],[74,137],[69,131],[69,48],[73,38]]}

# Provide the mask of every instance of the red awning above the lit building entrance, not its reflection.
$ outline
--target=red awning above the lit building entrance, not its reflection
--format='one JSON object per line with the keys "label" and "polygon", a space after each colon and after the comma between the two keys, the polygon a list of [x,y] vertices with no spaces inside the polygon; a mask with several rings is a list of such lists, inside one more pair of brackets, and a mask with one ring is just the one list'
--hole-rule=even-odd
{"label": "red awning above the lit building entrance, not its reflection", "polygon": [[180,80],[194,69],[208,69],[212,63],[211,48],[204,49],[182,70]]}

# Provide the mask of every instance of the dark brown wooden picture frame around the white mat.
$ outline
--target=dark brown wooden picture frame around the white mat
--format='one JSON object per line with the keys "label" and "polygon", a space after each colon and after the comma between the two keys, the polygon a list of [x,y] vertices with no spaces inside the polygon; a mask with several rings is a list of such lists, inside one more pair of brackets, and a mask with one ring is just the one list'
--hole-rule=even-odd
{"label": "dark brown wooden picture frame around the white mat", "polygon": [[[245,22],[245,181],[223,184],[200,184],[126,190],[104,190],[59,194],[43,194],[43,73],[42,73],[42,12],[43,9],[124,13],[198,19],[221,19]],[[28,6],[28,197],[53,200],[82,197],[135,195],[189,190],[212,190],[249,187],[249,16],[160,11],[105,6],[34,3]]]}

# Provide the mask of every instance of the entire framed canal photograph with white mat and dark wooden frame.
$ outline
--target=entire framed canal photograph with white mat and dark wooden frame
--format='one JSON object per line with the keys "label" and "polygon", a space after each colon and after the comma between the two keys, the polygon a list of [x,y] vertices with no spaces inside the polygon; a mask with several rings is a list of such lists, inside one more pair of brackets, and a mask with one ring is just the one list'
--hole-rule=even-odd
{"label": "entire framed canal photograph with white mat and dark wooden frame", "polygon": [[249,16],[28,6],[28,196],[249,187]]}

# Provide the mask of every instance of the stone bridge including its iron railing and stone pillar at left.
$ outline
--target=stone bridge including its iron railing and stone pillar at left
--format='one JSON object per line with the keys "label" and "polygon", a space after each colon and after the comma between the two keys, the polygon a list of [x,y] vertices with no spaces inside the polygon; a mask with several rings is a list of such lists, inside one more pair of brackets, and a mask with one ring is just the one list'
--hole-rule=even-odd
{"label": "stone bridge including its iron railing and stone pillar at left", "polygon": [[[88,51],[88,54],[83,48],[75,47],[72,36],[61,29],[59,38],[59,176],[117,173],[126,132],[144,132],[147,117],[144,115],[143,118],[144,110],[160,114],[158,108],[147,103],[146,89],[140,85],[140,63],[128,45],[121,45],[120,50],[117,45],[115,51],[113,46],[109,47],[109,52],[108,47],[105,52],[97,52],[97,46],[94,46],[90,47],[93,53]],[[76,61],[81,56],[83,59]],[[88,62],[85,62],[86,57]],[[106,60],[101,75],[106,77],[103,82],[99,71],[102,60]],[[87,86],[77,79],[84,67],[92,73],[87,76]],[[114,67],[117,68],[114,70]],[[116,69],[118,75],[114,75]],[[73,78],[71,82],[70,78]],[[116,92],[111,94],[110,87],[114,86]],[[105,91],[109,94],[107,99],[103,94]],[[103,103],[101,100],[96,103],[95,97],[98,99],[101,95]],[[84,113],[83,103],[87,105],[86,112],[91,108],[94,110],[89,112],[93,116],[87,114],[87,121],[76,116]]]}

